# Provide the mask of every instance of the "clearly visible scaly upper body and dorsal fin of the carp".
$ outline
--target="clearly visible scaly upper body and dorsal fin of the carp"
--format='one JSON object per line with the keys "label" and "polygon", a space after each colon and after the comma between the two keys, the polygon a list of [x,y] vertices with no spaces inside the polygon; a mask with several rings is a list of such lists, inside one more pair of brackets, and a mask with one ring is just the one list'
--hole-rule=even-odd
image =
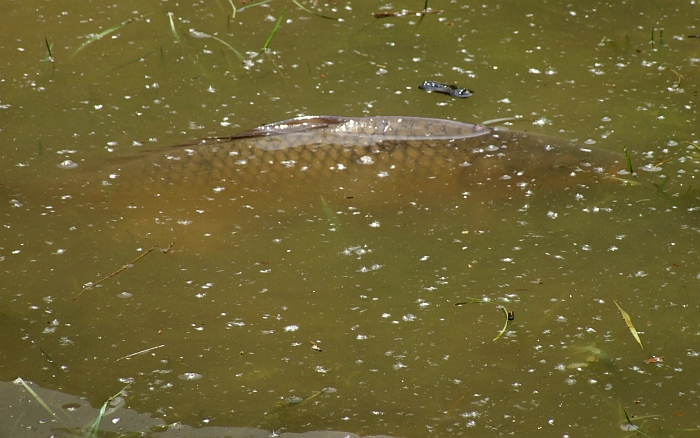
{"label": "clearly visible scaly upper body and dorsal fin of the carp", "polygon": [[[301,117],[229,137],[145,151],[103,169],[105,184],[163,192],[195,186],[396,196],[591,183],[619,157],[574,142],[419,117]],[[502,183],[499,183],[501,181]],[[397,192],[398,191],[398,192]],[[375,196],[375,195],[372,195]]]}

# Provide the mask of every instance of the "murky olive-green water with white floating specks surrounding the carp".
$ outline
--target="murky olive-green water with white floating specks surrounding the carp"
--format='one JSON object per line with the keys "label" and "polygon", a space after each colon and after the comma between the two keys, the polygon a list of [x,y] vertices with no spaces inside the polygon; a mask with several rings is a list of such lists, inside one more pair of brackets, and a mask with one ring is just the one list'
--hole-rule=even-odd
{"label": "murky olive-green water with white floating specks surrounding the carp", "polygon": [[[697,433],[700,39],[687,36],[700,5],[465,3],[431,3],[444,12],[420,26],[373,18],[420,1],[318,3],[342,22],[282,0],[234,19],[227,2],[5,5],[0,379],[93,406],[133,382],[128,407],[193,427],[611,436],[626,412],[650,436]],[[272,51],[247,66],[189,32],[250,57],[285,5]],[[475,94],[418,90],[427,79]],[[82,179],[146,148],[317,114],[513,117],[626,146],[645,186],[257,210],[254,193],[188,190],[116,215]],[[470,297],[490,302],[455,306]],[[515,320],[494,341],[498,306]],[[49,420],[36,415],[22,424]]]}

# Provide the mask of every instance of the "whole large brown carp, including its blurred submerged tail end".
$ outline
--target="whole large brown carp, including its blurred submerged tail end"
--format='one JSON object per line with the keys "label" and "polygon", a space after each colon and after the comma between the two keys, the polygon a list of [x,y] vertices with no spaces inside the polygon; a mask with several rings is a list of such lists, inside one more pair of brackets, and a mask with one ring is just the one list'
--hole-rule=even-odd
{"label": "whole large brown carp, including its blurred submerged tail end", "polygon": [[177,224],[220,228],[213,224],[249,212],[308,214],[322,203],[397,211],[459,201],[474,211],[484,202],[593,186],[621,162],[568,140],[450,120],[318,116],[81,165],[66,171],[72,185],[46,190],[54,205],[103,212],[109,223],[172,231]]}

